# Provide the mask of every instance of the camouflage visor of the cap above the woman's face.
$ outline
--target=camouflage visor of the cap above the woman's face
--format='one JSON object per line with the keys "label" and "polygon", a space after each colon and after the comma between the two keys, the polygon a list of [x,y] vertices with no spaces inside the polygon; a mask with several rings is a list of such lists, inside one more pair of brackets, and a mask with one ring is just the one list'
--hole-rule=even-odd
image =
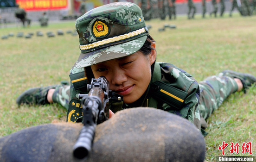
{"label": "camouflage visor of the cap above the woman's face", "polygon": [[126,43],[109,46],[88,53],[81,53],[75,63],[76,67],[84,68],[96,63],[131,55],[141,49],[146,39],[147,36],[143,36]]}

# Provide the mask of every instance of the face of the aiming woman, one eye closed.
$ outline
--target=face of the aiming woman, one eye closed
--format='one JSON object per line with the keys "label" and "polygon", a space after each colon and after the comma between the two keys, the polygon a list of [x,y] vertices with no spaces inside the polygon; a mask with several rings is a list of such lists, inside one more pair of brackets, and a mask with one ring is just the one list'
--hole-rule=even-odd
{"label": "face of the aiming woman, one eye closed", "polygon": [[109,88],[115,93],[123,95],[124,103],[138,100],[151,80],[151,68],[156,58],[155,50],[149,55],[140,51],[132,55],[97,63],[91,66],[95,78],[105,76],[109,81]]}

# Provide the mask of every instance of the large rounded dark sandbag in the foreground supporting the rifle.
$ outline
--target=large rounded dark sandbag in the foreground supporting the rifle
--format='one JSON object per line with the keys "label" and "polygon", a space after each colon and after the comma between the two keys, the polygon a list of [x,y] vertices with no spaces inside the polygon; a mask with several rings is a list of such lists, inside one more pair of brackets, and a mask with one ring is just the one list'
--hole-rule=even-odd
{"label": "large rounded dark sandbag in the foreground supporting the rifle", "polygon": [[203,162],[205,141],[188,120],[130,108],[96,126],[92,151],[73,156],[80,123],[38,125],[0,138],[0,162]]}

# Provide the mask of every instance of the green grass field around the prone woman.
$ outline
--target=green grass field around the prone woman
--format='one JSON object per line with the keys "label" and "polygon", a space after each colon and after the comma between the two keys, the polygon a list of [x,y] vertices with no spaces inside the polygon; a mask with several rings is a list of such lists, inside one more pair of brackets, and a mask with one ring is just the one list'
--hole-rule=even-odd
{"label": "green grass field around the prone woman", "polygon": [[[153,19],[150,34],[156,40],[157,61],[171,62],[186,70],[198,81],[218,74],[225,69],[250,73],[256,76],[256,16],[232,18],[188,20],[178,16],[176,20]],[[37,37],[36,31],[64,32],[75,30],[74,22],[50,24],[46,28],[32,25],[30,28],[1,28],[0,36],[13,33],[14,37],[0,40],[0,137],[29,126],[65,121],[66,110],[57,104],[47,106],[16,105],[16,98],[30,87],[41,87],[69,81],[69,70],[77,60],[78,36],[64,34],[56,37]],[[165,24],[176,25],[176,29],[158,29]],[[16,37],[34,33],[32,38]],[[252,142],[252,152],[256,153],[256,87],[248,93],[234,93],[207,120],[209,134],[205,137],[206,161],[216,161],[221,156],[218,146],[225,141],[239,143],[238,156],[242,154],[243,142]],[[171,136],[171,135],[170,135]]]}

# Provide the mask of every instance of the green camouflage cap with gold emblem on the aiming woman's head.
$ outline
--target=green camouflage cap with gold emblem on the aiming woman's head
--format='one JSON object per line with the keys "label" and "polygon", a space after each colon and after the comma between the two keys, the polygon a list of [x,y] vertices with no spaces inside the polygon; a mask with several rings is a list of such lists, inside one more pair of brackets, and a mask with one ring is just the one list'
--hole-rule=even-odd
{"label": "green camouflage cap with gold emblem on the aiming woman's head", "polygon": [[77,68],[133,54],[149,34],[141,8],[130,2],[94,8],[77,19],[76,29],[81,50]]}

